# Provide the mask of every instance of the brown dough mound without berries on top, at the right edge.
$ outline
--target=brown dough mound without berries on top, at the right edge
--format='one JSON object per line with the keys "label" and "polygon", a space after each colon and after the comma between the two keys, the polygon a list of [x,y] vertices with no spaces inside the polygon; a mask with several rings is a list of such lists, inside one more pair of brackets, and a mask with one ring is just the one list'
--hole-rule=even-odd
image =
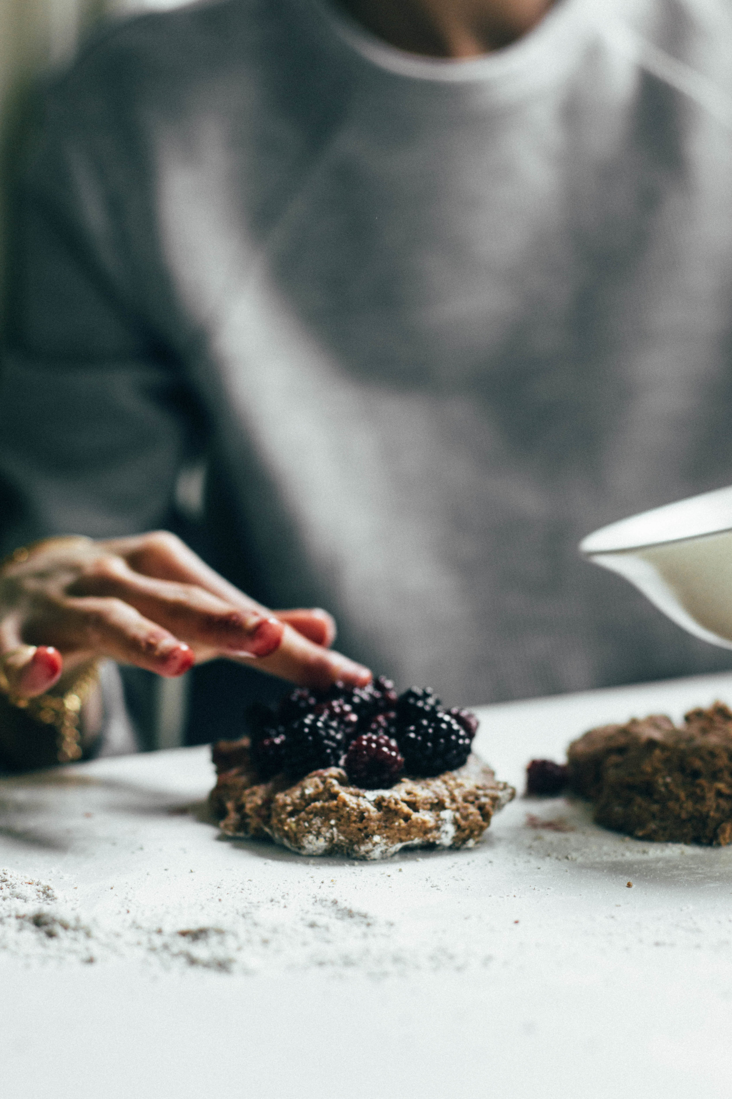
{"label": "brown dough mound without berries on top, at the right edge", "polygon": [[603,725],[568,748],[570,786],[595,820],[639,840],[732,843],[732,711],[691,710]]}

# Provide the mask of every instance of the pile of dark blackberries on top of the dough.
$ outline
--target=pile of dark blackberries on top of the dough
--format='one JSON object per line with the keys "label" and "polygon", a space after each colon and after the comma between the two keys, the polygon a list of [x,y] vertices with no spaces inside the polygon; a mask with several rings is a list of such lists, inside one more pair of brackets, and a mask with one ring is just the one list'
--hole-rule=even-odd
{"label": "pile of dark blackberries on top of the dough", "polygon": [[368,687],[299,687],[277,710],[256,706],[247,712],[251,759],[262,781],[279,774],[297,781],[312,770],[344,767],[363,789],[393,786],[403,774],[427,778],[461,767],[476,729],[469,710],[446,710],[428,687],[397,695],[384,676]]}

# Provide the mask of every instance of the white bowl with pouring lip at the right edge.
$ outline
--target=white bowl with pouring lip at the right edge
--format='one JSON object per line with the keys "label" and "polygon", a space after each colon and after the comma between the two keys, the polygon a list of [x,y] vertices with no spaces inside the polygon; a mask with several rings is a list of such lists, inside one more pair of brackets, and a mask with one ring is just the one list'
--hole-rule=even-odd
{"label": "white bowl with pouring lip at the right edge", "polygon": [[732,487],[610,523],[579,552],[689,633],[732,648]]}

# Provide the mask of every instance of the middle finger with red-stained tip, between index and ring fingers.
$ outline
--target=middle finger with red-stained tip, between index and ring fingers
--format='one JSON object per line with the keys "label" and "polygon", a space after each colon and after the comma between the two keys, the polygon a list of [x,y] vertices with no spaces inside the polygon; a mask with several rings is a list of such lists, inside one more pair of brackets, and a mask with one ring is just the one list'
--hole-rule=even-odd
{"label": "middle finger with red-stained tip, between index and ring fingers", "polygon": [[196,585],[142,576],[111,554],[98,557],[67,592],[121,599],[181,641],[215,651],[268,656],[284,632],[282,623],[267,612],[232,607]]}

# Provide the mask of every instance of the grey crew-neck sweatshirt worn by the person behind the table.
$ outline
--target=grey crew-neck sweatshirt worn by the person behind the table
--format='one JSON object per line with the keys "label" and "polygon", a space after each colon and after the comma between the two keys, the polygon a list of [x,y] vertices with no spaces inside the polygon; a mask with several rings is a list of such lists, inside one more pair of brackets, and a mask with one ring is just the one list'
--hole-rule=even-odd
{"label": "grey crew-neck sweatshirt worn by the person behind the table", "polygon": [[173,521],[451,702],[730,667],[578,539],[732,481],[732,9],[564,0],[475,60],[316,0],[113,26],[52,89],[4,542]]}

